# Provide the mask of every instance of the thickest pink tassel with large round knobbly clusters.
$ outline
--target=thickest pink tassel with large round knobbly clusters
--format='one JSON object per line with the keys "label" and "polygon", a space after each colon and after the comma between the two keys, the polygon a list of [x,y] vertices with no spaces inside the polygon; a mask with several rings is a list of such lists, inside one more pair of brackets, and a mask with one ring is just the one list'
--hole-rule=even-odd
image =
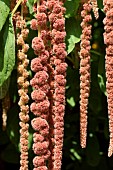
{"label": "thickest pink tassel with large round knobbly clusters", "polygon": [[[35,7],[36,8],[36,7]],[[34,78],[31,80],[33,92],[31,97],[34,102],[31,104],[31,111],[36,116],[32,121],[32,127],[36,131],[33,134],[33,151],[35,157],[33,159],[34,170],[47,170],[47,160],[50,156],[49,151],[49,106],[48,99],[49,74],[48,59],[49,52],[46,47],[47,36],[47,9],[46,1],[42,0],[37,4],[35,9],[35,19],[31,21],[31,28],[38,30],[38,37],[32,40],[32,48],[37,55],[31,61],[31,70],[35,72]]]}

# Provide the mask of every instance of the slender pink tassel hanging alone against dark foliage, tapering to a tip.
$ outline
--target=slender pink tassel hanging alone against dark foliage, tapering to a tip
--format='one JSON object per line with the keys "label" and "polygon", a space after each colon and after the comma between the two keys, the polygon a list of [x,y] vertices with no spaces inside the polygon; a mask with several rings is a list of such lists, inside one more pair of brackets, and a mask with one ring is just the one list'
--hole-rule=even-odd
{"label": "slender pink tassel hanging alone against dark foliage, tapering to a tip", "polygon": [[80,143],[81,147],[86,147],[87,138],[87,108],[90,92],[90,39],[91,39],[91,9],[90,0],[83,4],[82,35],[80,50]]}

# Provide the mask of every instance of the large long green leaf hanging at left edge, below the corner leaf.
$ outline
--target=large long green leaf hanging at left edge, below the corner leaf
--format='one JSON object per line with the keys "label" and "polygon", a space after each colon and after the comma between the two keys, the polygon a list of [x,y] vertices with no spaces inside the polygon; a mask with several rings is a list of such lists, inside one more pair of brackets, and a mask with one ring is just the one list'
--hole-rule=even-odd
{"label": "large long green leaf hanging at left edge, below the corner leaf", "polygon": [[0,86],[2,86],[15,65],[15,36],[11,17],[7,19],[0,37]]}

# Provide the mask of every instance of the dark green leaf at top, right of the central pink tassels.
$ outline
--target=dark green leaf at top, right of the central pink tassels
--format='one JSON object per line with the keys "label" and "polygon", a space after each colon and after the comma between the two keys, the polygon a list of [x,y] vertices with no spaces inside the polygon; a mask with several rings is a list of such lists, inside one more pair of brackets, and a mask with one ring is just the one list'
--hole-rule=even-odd
{"label": "dark green leaf at top, right of the central pink tassels", "polygon": [[65,2],[66,7],[66,18],[74,17],[78,11],[80,0],[67,0]]}

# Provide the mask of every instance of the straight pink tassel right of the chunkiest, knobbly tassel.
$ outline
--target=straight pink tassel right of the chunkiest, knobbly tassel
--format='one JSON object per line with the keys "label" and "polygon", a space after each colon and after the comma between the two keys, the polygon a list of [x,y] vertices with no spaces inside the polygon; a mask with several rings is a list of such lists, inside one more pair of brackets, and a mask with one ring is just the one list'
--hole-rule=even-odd
{"label": "straight pink tassel right of the chunkiest, knobbly tassel", "polygon": [[64,134],[64,112],[65,112],[65,84],[66,68],[65,57],[65,8],[63,3],[56,0],[48,0],[48,9],[50,10],[49,21],[52,30],[52,46],[54,56],[54,152],[53,167],[54,170],[61,169],[62,147]]}

